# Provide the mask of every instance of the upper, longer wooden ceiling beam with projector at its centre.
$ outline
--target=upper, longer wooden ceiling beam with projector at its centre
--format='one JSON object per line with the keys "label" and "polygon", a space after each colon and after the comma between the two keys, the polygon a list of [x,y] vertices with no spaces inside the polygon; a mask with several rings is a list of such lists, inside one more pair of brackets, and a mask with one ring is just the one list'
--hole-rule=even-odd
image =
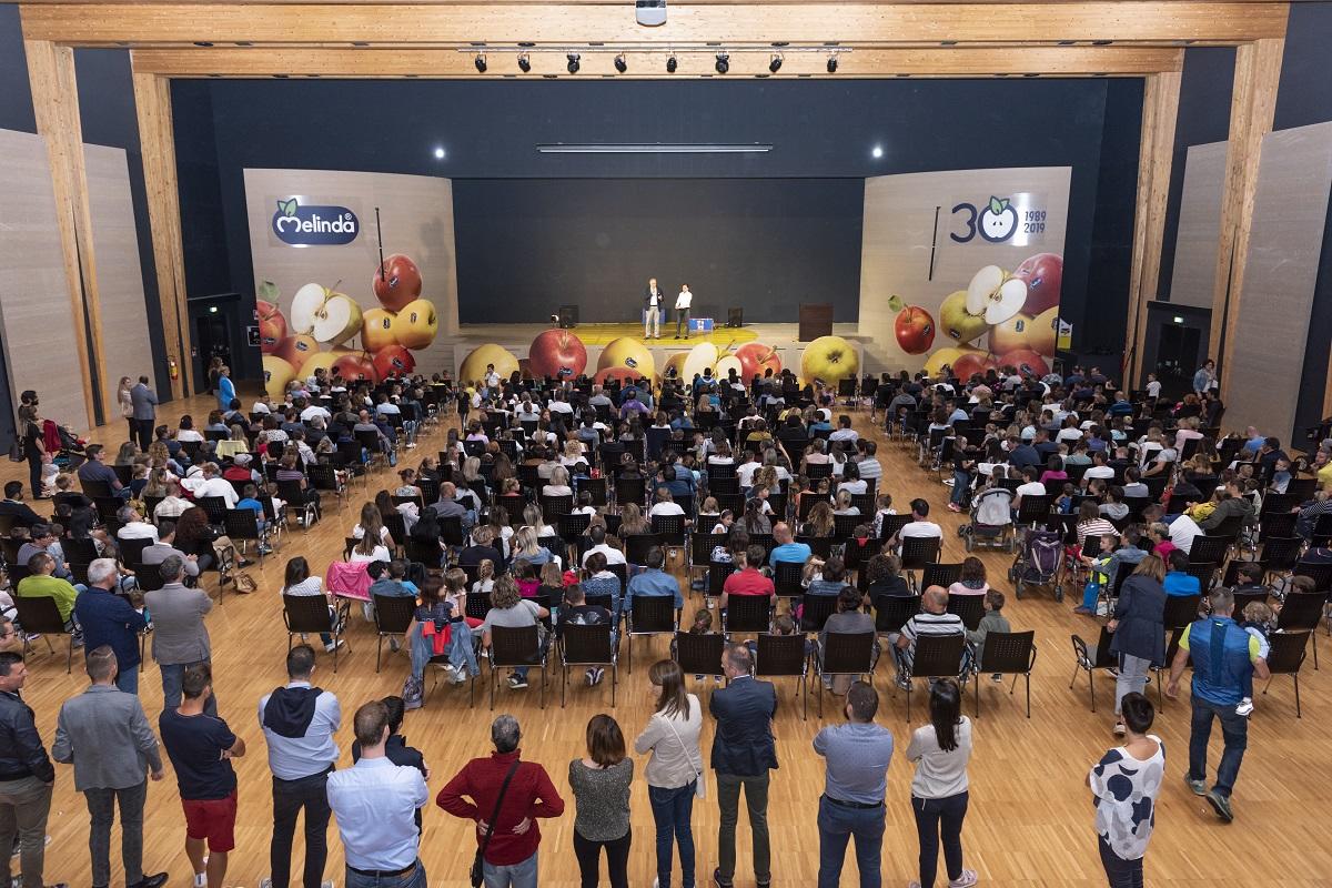
{"label": "upper, longer wooden ceiling beam with projector at its centre", "polygon": [[681,4],[658,28],[637,25],[629,4],[25,4],[21,13],[27,39],[71,45],[1245,43],[1283,36],[1287,4]]}

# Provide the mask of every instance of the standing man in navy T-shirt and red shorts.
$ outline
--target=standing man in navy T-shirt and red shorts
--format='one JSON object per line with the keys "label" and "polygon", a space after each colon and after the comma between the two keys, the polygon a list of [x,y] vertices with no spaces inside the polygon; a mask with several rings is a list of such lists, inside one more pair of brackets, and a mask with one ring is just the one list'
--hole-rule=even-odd
{"label": "standing man in navy T-shirt and red shorts", "polygon": [[180,707],[165,710],[157,727],[185,808],[185,853],[194,867],[194,888],[222,888],[226,853],[236,847],[232,759],[245,755],[245,740],[232,734],[226,722],[204,712],[213,695],[208,663],[185,670],[181,691]]}

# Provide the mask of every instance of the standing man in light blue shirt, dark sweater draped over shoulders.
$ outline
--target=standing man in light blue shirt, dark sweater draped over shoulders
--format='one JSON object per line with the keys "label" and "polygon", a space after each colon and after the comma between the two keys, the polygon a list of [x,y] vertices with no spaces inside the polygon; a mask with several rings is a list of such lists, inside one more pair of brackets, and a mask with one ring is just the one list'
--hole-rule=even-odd
{"label": "standing man in light blue shirt, dark sweater draped over shoulders", "polygon": [[305,888],[328,888],[329,803],[326,783],[338,751],[333,735],[342,724],[342,707],[333,694],[310,686],[314,648],[297,644],[286,655],[286,687],[265,694],[258,702],[258,723],[268,743],[268,767],[273,772],[273,840],[269,845],[272,876],[264,888],[286,885],[292,876],[292,839],[296,817],[305,809]]}

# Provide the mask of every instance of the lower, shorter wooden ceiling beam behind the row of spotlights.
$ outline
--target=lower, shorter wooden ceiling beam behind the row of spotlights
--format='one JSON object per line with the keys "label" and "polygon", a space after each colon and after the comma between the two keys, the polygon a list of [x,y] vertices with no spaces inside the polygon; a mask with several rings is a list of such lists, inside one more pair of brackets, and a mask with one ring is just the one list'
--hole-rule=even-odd
{"label": "lower, shorter wooden ceiling beam behind the row of spotlights", "polygon": [[[539,79],[570,77],[565,52],[526,52],[530,72],[518,68],[521,51],[488,49],[486,72],[476,68],[478,52],[456,49],[135,49],[135,71],[170,77],[428,77],[428,79],[501,79],[506,76]],[[622,79],[719,77],[715,71],[718,51],[706,52],[629,52],[627,71],[614,67],[614,51],[581,51],[577,79],[615,76]],[[675,73],[666,72],[666,60],[677,60]],[[1177,72],[1183,49],[1135,47],[1028,47],[1014,49],[855,49],[838,52],[836,72],[827,71],[829,52],[730,52],[727,77],[1008,77],[1008,76],[1146,76]],[[782,65],[769,71],[774,55]]]}

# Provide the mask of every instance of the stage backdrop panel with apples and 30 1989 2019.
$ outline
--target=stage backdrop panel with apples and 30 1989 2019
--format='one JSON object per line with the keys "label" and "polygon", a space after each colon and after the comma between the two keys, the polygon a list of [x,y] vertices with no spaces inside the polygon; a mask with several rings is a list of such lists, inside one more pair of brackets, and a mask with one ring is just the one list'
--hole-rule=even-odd
{"label": "stage backdrop panel with apples and 30 1989 2019", "polygon": [[864,369],[1047,371],[1070,176],[1068,166],[1038,166],[867,178]]}

